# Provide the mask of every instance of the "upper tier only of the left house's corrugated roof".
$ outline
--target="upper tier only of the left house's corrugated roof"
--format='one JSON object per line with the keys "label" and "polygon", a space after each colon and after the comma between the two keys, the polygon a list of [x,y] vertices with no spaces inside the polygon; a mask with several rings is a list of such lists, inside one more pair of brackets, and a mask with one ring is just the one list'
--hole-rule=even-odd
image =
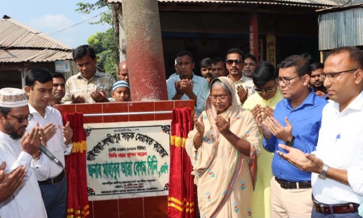
{"label": "upper tier only of the left house's corrugated roof", "polygon": [[33,47],[71,50],[42,32],[31,29],[12,18],[0,19],[0,47]]}

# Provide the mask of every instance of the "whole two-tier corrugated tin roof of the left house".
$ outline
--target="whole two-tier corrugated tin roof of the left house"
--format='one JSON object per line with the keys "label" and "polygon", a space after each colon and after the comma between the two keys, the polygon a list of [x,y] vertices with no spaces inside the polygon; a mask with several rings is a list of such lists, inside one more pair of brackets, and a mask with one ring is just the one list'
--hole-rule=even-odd
{"label": "whole two-tier corrugated tin roof of the left house", "polygon": [[0,19],[0,62],[53,62],[72,59],[72,49],[9,16]]}

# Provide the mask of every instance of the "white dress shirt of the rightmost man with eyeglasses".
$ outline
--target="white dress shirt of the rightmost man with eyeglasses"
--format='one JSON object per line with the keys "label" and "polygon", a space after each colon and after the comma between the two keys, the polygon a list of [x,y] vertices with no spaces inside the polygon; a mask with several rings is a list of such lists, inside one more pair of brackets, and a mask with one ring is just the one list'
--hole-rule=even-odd
{"label": "white dress shirt of the rightmost man with eyeglasses", "polygon": [[[349,186],[312,173],[313,195],[318,202],[363,202],[363,92],[342,112],[339,104],[323,109],[316,156],[330,167],[348,171]],[[329,170],[328,170],[329,171]]]}

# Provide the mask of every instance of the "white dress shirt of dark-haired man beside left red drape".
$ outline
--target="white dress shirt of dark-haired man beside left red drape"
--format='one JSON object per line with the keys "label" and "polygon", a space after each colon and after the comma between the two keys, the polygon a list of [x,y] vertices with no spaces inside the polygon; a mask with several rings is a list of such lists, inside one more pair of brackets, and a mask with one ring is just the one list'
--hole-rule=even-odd
{"label": "white dress shirt of dark-haired man beside left red drape", "polygon": [[[45,108],[45,116],[44,118],[36,111],[33,107],[29,105],[29,111],[33,115],[33,119],[29,121],[27,131],[30,131],[32,127],[39,123],[39,126],[43,127],[48,123],[54,123],[57,126],[57,132],[52,136],[52,138],[48,139],[46,142],[46,148],[52,153],[61,163],[65,166],[64,155],[70,154],[72,150],[72,145],[68,148],[63,143],[63,122],[61,113],[59,110],[46,107]],[[45,155],[43,155],[45,156]],[[45,158],[46,161],[42,161],[41,159],[35,160],[33,159],[31,163],[31,167],[36,168],[36,175],[38,181],[44,181],[48,178],[55,177],[63,171],[63,168],[55,163],[50,158]]]}

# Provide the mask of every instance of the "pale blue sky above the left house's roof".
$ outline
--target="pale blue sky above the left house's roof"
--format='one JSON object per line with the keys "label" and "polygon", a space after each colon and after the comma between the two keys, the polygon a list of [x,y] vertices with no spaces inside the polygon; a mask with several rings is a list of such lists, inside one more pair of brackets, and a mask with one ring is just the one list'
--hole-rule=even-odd
{"label": "pale blue sky above the left house's roof", "polygon": [[[75,10],[76,3],[80,1],[93,3],[96,0],[0,0],[0,18],[4,15],[10,16],[34,30],[49,35],[107,10],[104,8],[88,15],[79,14]],[[109,28],[108,24],[89,24],[89,22],[98,21],[99,17],[94,17],[50,37],[73,48],[87,44],[87,39],[91,35]]]}

